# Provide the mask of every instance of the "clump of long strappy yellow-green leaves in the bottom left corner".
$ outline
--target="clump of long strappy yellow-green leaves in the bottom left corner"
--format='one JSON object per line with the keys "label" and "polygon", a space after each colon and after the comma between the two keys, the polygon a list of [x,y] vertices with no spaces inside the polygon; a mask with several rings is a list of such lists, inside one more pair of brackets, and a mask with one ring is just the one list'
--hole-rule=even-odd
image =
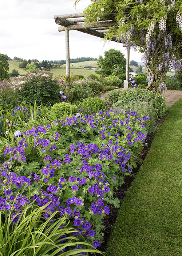
{"label": "clump of long strappy yellow-green leaves in the bottom left corner", "polygon": [[[12,217],[11,212],[0,211],[1,256],[48,256],[82,255],[82,252],[99,252],[86,242],[73,236],[76,230],[69,226],[69,216],[56,218],[59,211],[44,220],[48,203],[43,206],[29,204]],[[81,246],[82,249],[81,249]],[[80,249],[75,249],[79,248]],[[87,249],[86,248],[90,248]]]}

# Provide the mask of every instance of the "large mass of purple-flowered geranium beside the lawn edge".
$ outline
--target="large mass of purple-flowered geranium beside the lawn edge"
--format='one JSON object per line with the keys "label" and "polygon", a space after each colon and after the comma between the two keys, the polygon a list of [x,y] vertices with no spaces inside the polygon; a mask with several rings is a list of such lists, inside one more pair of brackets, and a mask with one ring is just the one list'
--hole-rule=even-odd
{"label": "large mass of purple-flowered geranium beside the lawn edge", "polygon": [[32,127],[6,147],[2,141],[0,210],[9,211],[18,192],[12,218],[32,200],[48,203],[45,219],[56,210],[70,214],[75,236],[96,248],[108,204],[119,206],[112,189],[130,174],[145,142],[146,119],[133,111],[100,111]]}

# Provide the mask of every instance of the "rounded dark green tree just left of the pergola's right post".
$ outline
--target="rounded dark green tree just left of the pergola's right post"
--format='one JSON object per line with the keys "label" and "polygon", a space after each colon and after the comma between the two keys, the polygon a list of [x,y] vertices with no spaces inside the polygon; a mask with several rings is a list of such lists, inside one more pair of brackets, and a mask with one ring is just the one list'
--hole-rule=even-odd
{"label": "rounded dark green tree just left of the pergola's right post", "polygon": [[126,59],[119,50],[110,49],[104,52],[104,58],[100,55],[97,64],[100,70],[95,73],[103,77],[126,72]]}

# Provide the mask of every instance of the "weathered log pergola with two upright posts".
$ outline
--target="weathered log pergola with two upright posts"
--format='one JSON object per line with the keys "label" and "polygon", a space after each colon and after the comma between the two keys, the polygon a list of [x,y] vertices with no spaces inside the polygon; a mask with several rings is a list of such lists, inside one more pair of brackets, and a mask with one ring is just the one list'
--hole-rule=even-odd
{"label": "weathered log pergola with two upright posts", "polygon": [[[65,31],[65,42],[66,42],[66,75],[70,76],[70,46],[69,46],[69,30],[78,30],[80,32],[94,35],[95,37],[104,38],[105,33],[108,29],[115,25],[113,20],[104,20],[99,22],[85,23],[83,13],[77,14],[63,14],[54,15],[56,24],[61,25],[58,27],[58,31]],[[119,42],[116,37],[109,39],[110,41]],[[125,45],[123,45],[125,46]],[[127,51],[126,59],[126,80],[124,81],[124,87],[128,87],[129,80],[129,55],[130,51]]]}

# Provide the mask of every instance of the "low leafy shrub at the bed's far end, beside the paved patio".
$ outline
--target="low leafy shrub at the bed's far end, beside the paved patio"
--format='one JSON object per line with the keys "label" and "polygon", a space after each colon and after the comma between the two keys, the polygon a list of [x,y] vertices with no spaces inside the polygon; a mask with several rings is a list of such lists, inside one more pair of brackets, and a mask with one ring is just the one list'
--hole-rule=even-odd
{"label": "low leafy shrub at the bed's far end, beside the paved patio", "polygon": [[160,94],[153,94],[153,92],[149,90],[128,89],[112,91],[106,99],[113,103],[119,100],[123,101],[121,104],[129,101],[136,101],[137,99],[149,102],[151,99],[158,118],[161,118],[167,110],[165,97]]}

